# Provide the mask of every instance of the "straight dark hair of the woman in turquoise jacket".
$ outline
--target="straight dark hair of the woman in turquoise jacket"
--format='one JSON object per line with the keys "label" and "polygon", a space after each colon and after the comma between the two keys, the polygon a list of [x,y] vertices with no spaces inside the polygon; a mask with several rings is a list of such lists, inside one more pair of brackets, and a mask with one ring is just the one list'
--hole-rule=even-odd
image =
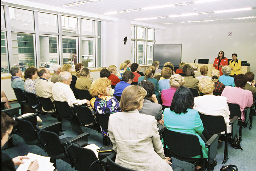
{"label": "straight dark hair of the woman in turquoise jacket", "polygon": [[187,109],[192,109],[194,106],[194,98],[191,91],[183,86],[180,86],[174,93],[171,111],[176,114],[187,113]]}

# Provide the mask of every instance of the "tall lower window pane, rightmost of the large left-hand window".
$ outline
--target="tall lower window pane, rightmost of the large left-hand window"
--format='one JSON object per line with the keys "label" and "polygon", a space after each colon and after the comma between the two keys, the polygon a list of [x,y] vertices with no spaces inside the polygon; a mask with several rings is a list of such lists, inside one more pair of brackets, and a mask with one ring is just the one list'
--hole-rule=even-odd
{"label": "tall lower window pane, rightmost of the large left-hand window", "polygon": [[82,37],[82,63],[85,67],[95,67],[95,38]]}

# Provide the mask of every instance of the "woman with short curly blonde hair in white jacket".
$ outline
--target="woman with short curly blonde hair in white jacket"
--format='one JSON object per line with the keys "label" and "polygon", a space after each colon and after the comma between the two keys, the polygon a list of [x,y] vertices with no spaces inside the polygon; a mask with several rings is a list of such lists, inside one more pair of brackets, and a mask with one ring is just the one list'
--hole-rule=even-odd
{"label": "woman with short curly blonde hair in white jacket", "polygon": [[[193,109],[204,115],[223,116],[225,123],[227,124],[227,133],[231,133],[231,125],[229,125],[230,112],[227,98],[213,95],[214,89],[214,81],[207,78],[201,79],[199,81],[199,90],[204,96],[194,98]],[[225,134],[225,132],[222,132],[221,134]]]}

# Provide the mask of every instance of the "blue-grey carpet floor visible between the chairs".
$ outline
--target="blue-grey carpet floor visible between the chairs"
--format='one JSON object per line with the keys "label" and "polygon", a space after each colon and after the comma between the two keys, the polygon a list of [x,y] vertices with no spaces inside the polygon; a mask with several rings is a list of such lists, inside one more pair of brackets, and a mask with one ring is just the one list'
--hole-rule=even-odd
{"label": "blue-grey carpet floor visible between the chairs", "polygon": [[[18,107],[18,103],[11,104],[12,107]],[[44,125],[48,125],[50,123],[54,123],[57,121],[56,118],[52,118],[50,115],[39,115],[42,119]],[[62,123],[64,131],[64,135],[60,136],[60,138],[65,137],[75,137],[78,135],[75,131],[72,130],[72,127],[68,121],[63,121]],[[90,134],[88,137],[88,144],[96,144],[99,147],[103,146],[102,135],[95,130],[82,127],[84,132]],[[237,130],[239,131],[239,130]],[[37,146],[30,146],[27,145],[24,140],[19,137],[18,135],[13,135],[13,144],[17,145],[15,147],[3,150],[2,152],[8,154],[10,157],[16,157],[19,155],[27,155],[28,152],[48,156],[47,153],[44,152],[41,148]],[[234,164],[238,167],[238,171],[254,171],[256,166],[256,117],[253,117],[253,127],[251,130],[248,128],[243,128],[242,133],[242,142],[241,147],[243,151],[240,149],[234,149],[229,145],[228,151],[228,161],[225,165]],[[219,171],[222,167],[222,161],[224,157],[224,142],[223,146],[218,149],[218,154],[216,156],[216,160],[218,162],[217,166],[215,167],[215,171]],[[172,168],[174,169],[176,166],[182,167],[184,171],[194,171],[193,164],[179,161],[175,158],[172,158]],[[17,167],[16,167],[17,168]],[[73,171],[74,168],[71,168],[71,165],[62,161],[57,160],[57,169],[58,171]]]}

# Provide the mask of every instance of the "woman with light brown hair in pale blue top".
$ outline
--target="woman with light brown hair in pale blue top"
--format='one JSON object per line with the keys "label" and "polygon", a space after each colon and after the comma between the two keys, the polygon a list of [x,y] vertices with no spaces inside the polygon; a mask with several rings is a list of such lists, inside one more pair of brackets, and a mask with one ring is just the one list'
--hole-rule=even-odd
{"label": "woman with light brown hair in pale blue top", "polygon": [[161,71],[162,77],[164,79],[159,80],[159,91],[170,89],[170,77],[172,76],[172,69],[169,67],[163,67]]}

